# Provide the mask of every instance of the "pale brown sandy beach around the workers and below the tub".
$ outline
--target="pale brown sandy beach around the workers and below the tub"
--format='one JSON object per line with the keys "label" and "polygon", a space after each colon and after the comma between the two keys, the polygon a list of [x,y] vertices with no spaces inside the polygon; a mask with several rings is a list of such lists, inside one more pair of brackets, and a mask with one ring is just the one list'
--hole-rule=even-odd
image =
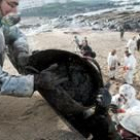
{"label": "pale brown sandy beach around the workers and below the tub", "polygon": [[[80,29],[77,33],[76,35],[81,38],[86,36],[89,45],[96,52],[96,60],[101,66],[104,82],[108,80],[107,56],[109,51],[116,49],[120,63],[123,65],[124,50],[127,41],[138,34],[135,32],[126,32],[124,39],[121,40],[119,32],[95,32],[88,29]],[[74,35],[71,32],[67,32],[67,30],[53,30],[52,32],[29,36],[28,41],[31,50],[53,48],[74,52]],[[138,52],[136,52],[136,56],[138,70],[140,68],[140,56]],[[18,74],[8,59],[4,63],[4,70],[10,74]],[[123,69],[119,68],[117,80],[111,82],[111,94],[117,93],[118,87],[123,81]],[[140,74],[137,72],[134,77],[134,86],[137,91],[139,85]],[[64,138],[65,134],[71,140],[75,139],[76,132],[72,133],[72,130],[56,115],[54,110],[37,92],[32,98],[1,96],[0,112],[0,140],[66,140]],[[78,137],[75,140],[82,140],[80,136]]]}

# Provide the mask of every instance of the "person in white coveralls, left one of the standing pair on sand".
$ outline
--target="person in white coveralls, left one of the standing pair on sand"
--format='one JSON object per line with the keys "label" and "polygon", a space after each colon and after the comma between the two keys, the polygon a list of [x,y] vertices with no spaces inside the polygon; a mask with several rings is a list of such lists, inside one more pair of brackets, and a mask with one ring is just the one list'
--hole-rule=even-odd
{"label": "person in white coveralls, left one of the standing pair on sand", "polygon": [[117,58],[117,51],[114,49],[108,54],[107,64],[109,70],[109,78],[111,80],[115,80],[116,70],[118,65],[120,65],[118,58]]}

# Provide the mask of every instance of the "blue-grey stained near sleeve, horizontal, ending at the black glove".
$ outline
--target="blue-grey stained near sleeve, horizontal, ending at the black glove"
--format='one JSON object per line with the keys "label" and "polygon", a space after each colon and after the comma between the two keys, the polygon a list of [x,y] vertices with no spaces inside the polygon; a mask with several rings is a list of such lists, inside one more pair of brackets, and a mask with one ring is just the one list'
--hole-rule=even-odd
{"label": "blue-grey stained near sleeve, horizontal, ending at the black glove", "polygon": [[34,92],[34,76],[11,76],[0,66],[0,95],[31,97]]}

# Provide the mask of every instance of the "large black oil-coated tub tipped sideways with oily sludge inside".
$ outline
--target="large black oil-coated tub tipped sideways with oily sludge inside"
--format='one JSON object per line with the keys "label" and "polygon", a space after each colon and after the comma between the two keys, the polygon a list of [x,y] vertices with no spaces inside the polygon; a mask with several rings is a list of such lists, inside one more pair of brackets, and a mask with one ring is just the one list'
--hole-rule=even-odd
{"label": "large black oil-coated tub tipped sideways with oily sludge inside", "polygon": [[[46,85],[38,89],[54,110],[65,118],[84,137],[108,139],[108,90],[104,87],[99,64],[89,62],[72,52],[44,50],[34,53],[24,71],[26,74],[47,72]],[[97,100],[102,95],[104,103]],[[105,97],[105,98],[104,98]],[[87,111],[95,106],[93,115]],[[86,114],[87,113],[87,114]],[[89,115],[89,117],[88,117]]]}

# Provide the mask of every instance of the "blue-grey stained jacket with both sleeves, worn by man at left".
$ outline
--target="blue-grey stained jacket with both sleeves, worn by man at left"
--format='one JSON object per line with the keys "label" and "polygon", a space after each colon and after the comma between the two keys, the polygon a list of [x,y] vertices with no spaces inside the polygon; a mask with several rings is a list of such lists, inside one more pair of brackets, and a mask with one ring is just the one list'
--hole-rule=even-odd
{"label": "blue-grey stained jacket with both sleeves, worn by man at left", "polygon": [[[1,22],[1,20],[0,20]],[[29,53],[25,36],[15,26],[0,27],[0,94],[19,97],[30,97],[34,88],[34,76],[11,76],[2,70],[4,55],[8,46],[8,56],[17,67],[19,57]]]}

